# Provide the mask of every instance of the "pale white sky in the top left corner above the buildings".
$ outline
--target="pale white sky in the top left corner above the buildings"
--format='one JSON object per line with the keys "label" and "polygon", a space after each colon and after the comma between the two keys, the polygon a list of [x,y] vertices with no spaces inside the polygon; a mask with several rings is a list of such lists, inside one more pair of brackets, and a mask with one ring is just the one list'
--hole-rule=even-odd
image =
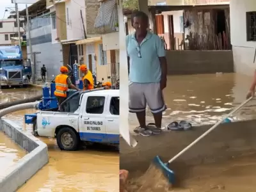
{"label": "pale white sky in the top left corner above the buildings", "polygon": [[[29,5],[30,4],[28,4],[28,6]],[[0,0],[0,20],[3,19],[3,17],[6,19],[10,15],[10,12],[12,12],[7,7],[10,7],[13,11],[15,11],[15,4],[12,3],[12,0]],[[6,8],[8,12],[6,12],[4,15]],[[26,4],[18,4],[18,8],[19,11],[24,10],[26,8]]]}

